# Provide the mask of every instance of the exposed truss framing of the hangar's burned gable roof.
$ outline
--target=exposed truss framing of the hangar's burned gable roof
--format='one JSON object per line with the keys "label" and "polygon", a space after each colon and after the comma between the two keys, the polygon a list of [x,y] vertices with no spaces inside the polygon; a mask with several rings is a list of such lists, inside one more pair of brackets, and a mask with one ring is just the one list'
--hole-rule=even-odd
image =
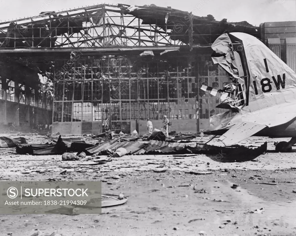
{"label": "exposed truss framing of the hangar's burned gable roof", "polygon": [[191,20],[190,13],[169,7],[99,4],[2,22],[0,52],[4,48],[209,45],[233,31],[259,35],[258,27],[247,22],[216,21],[211,15]]}

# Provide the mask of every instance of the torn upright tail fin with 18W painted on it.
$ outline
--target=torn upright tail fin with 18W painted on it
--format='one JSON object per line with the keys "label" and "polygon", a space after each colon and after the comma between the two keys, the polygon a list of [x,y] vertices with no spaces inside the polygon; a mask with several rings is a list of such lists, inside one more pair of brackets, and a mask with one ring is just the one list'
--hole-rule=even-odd
{"label": "torn upright tail fin with 18W painted on it", "polygon": [[241,92],[245,111],[296,103],[295,72],[254,36],[225,33],[212,49],[213,62],[233,77]]}

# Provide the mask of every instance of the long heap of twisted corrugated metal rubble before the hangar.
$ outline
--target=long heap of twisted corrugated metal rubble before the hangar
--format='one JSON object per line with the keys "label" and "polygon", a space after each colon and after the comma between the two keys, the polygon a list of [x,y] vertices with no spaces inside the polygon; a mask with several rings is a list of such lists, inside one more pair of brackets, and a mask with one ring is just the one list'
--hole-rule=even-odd
{"label": "long heap of twisted corrugated metal rubble before the hangar", "polygon": [[[194,139],[196,135],[181,135],[187,140]],[[62,160],[80,160],[85,161],[98,159],[99,156],[105,155],[110,157],[122,157],[125,155],[160,155],[160,154],[205,154],[211,159],[220,162],[250,161],[267,149],[267,143],[257,148],[247,148],[244,146],[213,146],[208,144],[194,142],[186,145],[178,142],[177,135],[173,139],[165,137],[161,130],[155,129],[148,138],[140,135],[134,130],[128,134],[114,134],[111,131],[99,135],[64,135],[48,134],[51,140],[45,144],[28,144],[24,138],[7,138],[2,137],[5,143],[11,143],[10,146],[16,146],[17,154],[30,155],[66,155]],[[7,145],[8,146],[8,145]],[[77,155],[70,153],[77,153]],[[91,156],[86,157],[86,156]],[[238,158],[239,156],[239,158]],[[236,160],[238,159],[238,160]],[[210,163],[207,163],[209,166]],[[192,173],[205,174],[205,173]],[[206,173],[209,174],[209,173]]]}

